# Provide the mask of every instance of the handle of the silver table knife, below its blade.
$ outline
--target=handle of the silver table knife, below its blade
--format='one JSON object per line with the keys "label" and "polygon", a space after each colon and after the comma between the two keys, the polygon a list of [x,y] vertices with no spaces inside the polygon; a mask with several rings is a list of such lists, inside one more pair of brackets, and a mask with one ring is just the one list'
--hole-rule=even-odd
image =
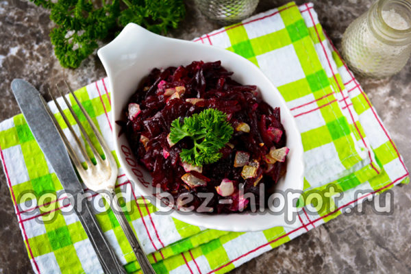
{"label": "handle of the silver table knife, below its blade", "polygon": [[110,244],[105,239],[94,214],[92,214],[88,206],[88,201],[83,203],[82,207],[82,210],[77,210],[77,207],[75,207],[75,210],[84,230],[86,230],[92,247],[97,253],[97,258],[99,258],[104,273],[127,273],[110,247]]}

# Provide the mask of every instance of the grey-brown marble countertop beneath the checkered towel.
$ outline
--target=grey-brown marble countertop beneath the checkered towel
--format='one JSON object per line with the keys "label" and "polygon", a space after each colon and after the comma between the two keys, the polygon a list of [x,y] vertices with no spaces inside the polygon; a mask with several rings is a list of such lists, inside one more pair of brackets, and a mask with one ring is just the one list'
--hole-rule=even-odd
{"label": "grey-brown marble countertop beneath the checkered towel", "polygon": [[[261,0],[257,12],[286,2]],[[372,1],[313,2],[325,31],[339,48],[347,25]],[[186,19],[170,36],[190,40],[219,28],[199,13],[192,0],[186,5]],[[78,88],[105,76],[96,55],[79,69],[62,69],[49,42],[51,27],[47,10],[27,1],[0,1],[0,121],[19,112],[10,90],[15,77],[44,91],[62,84],[62,79]],[[410,167],[411,62],[390,79],[358,79]],[[363,215],[339,216],[232,273],[411,273],[411,188],[397,186],[393,192],[393,214],[379,216],[366,207]],[[0,274],[32,273],[2,172],[0,204]]]}

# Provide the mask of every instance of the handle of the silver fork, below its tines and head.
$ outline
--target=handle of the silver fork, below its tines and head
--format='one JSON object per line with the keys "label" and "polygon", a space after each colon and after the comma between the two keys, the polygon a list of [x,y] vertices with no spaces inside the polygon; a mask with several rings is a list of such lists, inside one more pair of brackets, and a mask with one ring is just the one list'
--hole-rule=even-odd
{"label": "handle of the silver fork, below its tines and head", "polygon": [[140,264],[142,272],[145,274],[155,274],[153,266],[151,266],[149,259],[141,249],[140,242],[138,242],[136,234],[134,234],[132,227],[130,227],[127,219],[125,218],[125,215],[119,203],[119,198],[117,198],[116,196],[116,192],[114,192],[114,189],[110,189],[109,193],[110,195],[108,195],[108,198],[110,200],[108,200],[108,202],[110,202],[114,215],[116,216],[117,221],[119,221],[125,237],[129,241],[129,244],[132,246],[134,255],[136,255],[138,264]]}

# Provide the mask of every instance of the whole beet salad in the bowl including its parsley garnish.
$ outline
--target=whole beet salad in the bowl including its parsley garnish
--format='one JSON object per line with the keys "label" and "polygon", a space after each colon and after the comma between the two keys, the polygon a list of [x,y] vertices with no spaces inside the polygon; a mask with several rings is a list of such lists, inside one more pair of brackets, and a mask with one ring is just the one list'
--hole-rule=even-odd
{"label": "whole beet salad in the bowl including its parsley garnish", "polygon": [[[279,108],[232,74],[220,61],[153,69],[129,100],[124,129],[132,150],[153,186],[175,201],[191,197],[177,207],[199,209],[201,193],[212,193],[209,213],[258,207],[260,192],[286,172]],[[256,199],[245,199],[248,192]]]}

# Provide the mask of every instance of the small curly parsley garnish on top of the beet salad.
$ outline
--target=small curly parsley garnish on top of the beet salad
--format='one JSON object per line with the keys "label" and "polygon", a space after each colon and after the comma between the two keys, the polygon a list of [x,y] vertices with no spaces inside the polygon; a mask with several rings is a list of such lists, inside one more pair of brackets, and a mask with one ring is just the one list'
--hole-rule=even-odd
{"label": "small curly parsley garnish on top of the beet salad", "polygon": [[229,141],[233,132],[233,127],[227,122],[227,114],[209,108],[184,118],[184,123],[175,119],[171,123],[170,140],[177,143],[190,137],[194,146],[192,149],[182,149],[180,158],[188,164],[202,166],[221,158],[219,150]]}

